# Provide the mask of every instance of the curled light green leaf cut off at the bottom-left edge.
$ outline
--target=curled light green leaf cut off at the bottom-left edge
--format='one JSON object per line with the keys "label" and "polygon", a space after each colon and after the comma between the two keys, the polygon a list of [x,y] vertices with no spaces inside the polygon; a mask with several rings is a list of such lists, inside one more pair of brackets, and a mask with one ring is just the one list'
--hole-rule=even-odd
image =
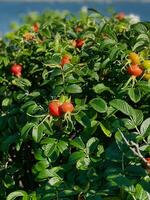
{"label": "curled light green leaf cut off at the bottom-left edge", "polygon": [[15,200],[17,197],[23,197],[22,200],[29,200],[28,194],[25,191],[18,190],[10,193],[6,200]]}

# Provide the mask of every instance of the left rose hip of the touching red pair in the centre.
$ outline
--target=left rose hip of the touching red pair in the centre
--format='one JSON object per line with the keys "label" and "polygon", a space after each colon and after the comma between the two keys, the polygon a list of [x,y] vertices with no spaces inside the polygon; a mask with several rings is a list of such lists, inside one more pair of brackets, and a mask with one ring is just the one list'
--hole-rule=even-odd
{"label": "left rose hip of the touching red pair in the centre", "polygon": [[60,101],[59,100],[53,100],[49,103],[49,112],[52,116],[57,116],[59,117],[61,115],[60,111]]}

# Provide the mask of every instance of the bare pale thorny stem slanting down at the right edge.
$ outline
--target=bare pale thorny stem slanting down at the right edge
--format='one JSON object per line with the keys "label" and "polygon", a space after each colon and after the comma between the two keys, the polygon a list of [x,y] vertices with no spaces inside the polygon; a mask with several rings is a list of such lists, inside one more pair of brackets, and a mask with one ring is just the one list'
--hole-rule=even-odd
{"label": "bare pale thorny stem slanting down at the right edge", "polygon": [[[122,136],[123,140],[125,141],[125,143],[127,144],[127,146],[133,152],[133,154],[138,156],[145,164],[147,164],[147,160],[143,157],[143,155],[141,154],[141,152],[139,150],[139,145],[136,144],[135,142],[129,143],[128,140],[125,138],[124,134],[122,133],[122,131],[119,128],[118,128],[118,131],[121,134],[121,136]],[[132,147],[131,145],[134,146],[134,147]]]}

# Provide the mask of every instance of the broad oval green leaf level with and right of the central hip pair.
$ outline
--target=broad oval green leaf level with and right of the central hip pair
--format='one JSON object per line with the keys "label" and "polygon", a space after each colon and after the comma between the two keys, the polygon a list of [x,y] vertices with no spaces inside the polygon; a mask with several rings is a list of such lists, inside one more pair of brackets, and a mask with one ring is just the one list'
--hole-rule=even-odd
{"label": "broad oval green leaf level with and right of the central hip pair", "polygon": [[107,104],[102,98],[95,98],[90,101],[90,105],[94,110],[100,113],[107,112]]}

